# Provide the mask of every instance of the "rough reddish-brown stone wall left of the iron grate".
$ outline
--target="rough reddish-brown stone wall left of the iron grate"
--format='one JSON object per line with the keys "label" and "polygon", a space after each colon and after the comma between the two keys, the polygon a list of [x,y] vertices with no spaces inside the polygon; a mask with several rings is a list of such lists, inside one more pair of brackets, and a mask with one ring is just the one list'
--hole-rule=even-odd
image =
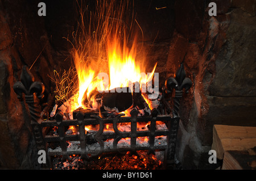
{"label": "rough reddish-brown stone wall left of the iron grate", "polygon": [[[8,3],[14,6],[9,6]],[[13,85],[19,80],[22,65],[32,65],[33,58],[40,52],[41,44],[38,43],[38,38],[32,40],[36,36],[31,33],[39,31],[32,32],[26,27],[28,23],[23,21],[30,18],[22,18],[22,13],[18,11],[22,9],[18,5],[26,6],[26,3],[0,2],[0,167],[36,169],[39,165],[36,164],[37,151],[31,134],[30,119],[25,113],[24,102],[19,102]],[[15,11],[9,11],[9,8],[14,8]],[[12,20],[15,20],[15,25],[11,23]]]}

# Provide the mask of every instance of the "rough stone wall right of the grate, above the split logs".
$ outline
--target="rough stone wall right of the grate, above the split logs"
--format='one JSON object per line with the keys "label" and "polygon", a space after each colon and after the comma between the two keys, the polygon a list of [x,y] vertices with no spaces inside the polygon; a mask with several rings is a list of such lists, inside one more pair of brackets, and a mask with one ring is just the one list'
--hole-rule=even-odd
{"label": "rough stone wall right of the grate, above the split logs", "polygon": [[181,103],[177,159],[183,169],[212,166],[208,151],[213,124],[256,126],[255,1],[214,2],[220,7],[217,16],[209,17],[205,9],[197,39],[189,41],[189,34],[176,29],[169,52],[170,65],[187,53],[184,65],[194,83]]}

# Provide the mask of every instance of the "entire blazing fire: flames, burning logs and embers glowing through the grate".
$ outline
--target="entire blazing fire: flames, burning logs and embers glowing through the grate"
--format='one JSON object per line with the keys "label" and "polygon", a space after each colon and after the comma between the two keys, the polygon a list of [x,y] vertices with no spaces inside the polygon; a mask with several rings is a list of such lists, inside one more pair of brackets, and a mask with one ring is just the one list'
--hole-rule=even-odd
{"label": "entire blazing fire: flames, burning logs and embers glowing through the grate", "polygon": [[[76,91],[73,91],[71,98],[68,98],[65,102],[62,101],[64,102],[63,104],[56,104],[53,107],[51,117],[59,112],[63,115],[64,120],[75,120],[77,119],[77,113],[82,112],[89,117],[98,115],[101,118],[108,119],[120,113],[125,117],[131,116],[130,111],[133,109],[138,111],[139,114],[137,114],[139,116],[150,116],[151,110],[158,107],[161,95],[158,90],[158,73],[155,73],[156,64],[150,73],[144,73],[146,70],[144,66],[145,58],[143,56],[137,58],[138,45],[136,36],[131,37],[130,35],[134,21],[130,22],[129,31],[127,31],[126,27],[129,22],[123,22],[128,4],[129,2],[126,1],[119,3],[115,1],[97,1],[95,14],[89,15],[89,26],[86,26],[84,21],[88,10],[85,9],[83,11],[81,5],[80,29],[74,35],[77,41],[72,50],[77,74],[77,89],[73,89]],[[139,26],[139,24],[137,25]],[[139,53],[143,54],[142,48]],[[71,71],[69,70],[68,72],[70,73]],[[67,98],[67,95],[61,92],[60,87],[65,89],[66,87],[63,86],[64,81],[72,80],[72,78],[66,79],[68,75],[67,73],[64,77],[61,77],[59,84],[55,81],[56,98]],[[58,96],[63,94],[64,96]],[[162,126],[164,127],[163,129],[167,129],[164,122],[158,122],[158,127]],[[150,120],[136,124],[137,129],[148,131],[147,125],[150,124]],[[113,124],[104,124],[102,133],[114,133],[113,126]],[[121,132],[131,132],[131,123],[118,123],[117,128]],[[97,134],[97,132],[100,132],[100,124],[85,125],[84,131],[87,136]],[[75,136],[81,134],[80,132],[79,125],[70,125],[68,129],[65,129],[65,135]],[[59,136],[57,127],[53,127],[51,135]],[[148,136],[144,136],[135,138],[135,141],[138,145],[146,148],[150,146],[149,139]],[[166,136],[158,136],[154,139],[156,139],[155,144],[157,146],[160,144],[166,146]],[[96,140],[91,141],[86,141],[87,151],[100,151],[101,145],[99,142]],[[114,138],[106,139],[104,141],[104,149],[113,150],[114,141]],[[81,151],[80,141],[67,141],[67,144],[67,151]],[[131,137],[121,138],[116,145],[118,149],[129,149]],[[50,154],[54,154],[56,151],[61,151],[61,145],[49,145]],[[70,155],[72,163],[74,160],[81,163],[81,159],[73,158],[76,154],[72,155]],[[158,162],[155,164],[157,166],[160,166],[163,162],[163,159],[159,161],[154,156],[150,158]],[[142,162],[144,163],[144,169],[147,168],[146,157]],[[69,162],[64,162],[63,164],[65,169],[70,165]],[[54,167],[59,167],[57,165]],[[71,165],[76,167],[75,165],[79,165],[79,163],[75,164],[74,162]],[[135,167],[138,167],[138,165]]]}

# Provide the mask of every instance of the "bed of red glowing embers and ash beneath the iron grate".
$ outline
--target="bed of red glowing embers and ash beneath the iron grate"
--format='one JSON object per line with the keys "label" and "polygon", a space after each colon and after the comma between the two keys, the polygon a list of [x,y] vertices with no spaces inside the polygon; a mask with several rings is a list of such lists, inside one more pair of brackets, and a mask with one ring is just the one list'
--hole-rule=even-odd
{"label": "bed of red glowing embers and ash beneath the iron grate", "polygon": [[93,161],[79,159],[79,155],[73,155],[70,161],[61,161],[61,157],[55,157],[53,161],[54,170],[158,170],[163,169],[162,155],[147,155],[145,151],[138,151],[139,157],[135,155],[115,155],[114,157],[98,157]]}

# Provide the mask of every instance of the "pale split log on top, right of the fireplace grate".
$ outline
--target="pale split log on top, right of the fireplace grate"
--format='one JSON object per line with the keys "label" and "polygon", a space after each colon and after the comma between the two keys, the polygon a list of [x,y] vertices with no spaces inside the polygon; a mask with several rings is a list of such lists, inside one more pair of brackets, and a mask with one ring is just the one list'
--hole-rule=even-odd
{"label": "pale split log on top, right of the fireplace grate", "polygon": [[223,159],[229,150],[247,150],[256,146],[256,127],[213,125],[212,150],[217,158]]}

